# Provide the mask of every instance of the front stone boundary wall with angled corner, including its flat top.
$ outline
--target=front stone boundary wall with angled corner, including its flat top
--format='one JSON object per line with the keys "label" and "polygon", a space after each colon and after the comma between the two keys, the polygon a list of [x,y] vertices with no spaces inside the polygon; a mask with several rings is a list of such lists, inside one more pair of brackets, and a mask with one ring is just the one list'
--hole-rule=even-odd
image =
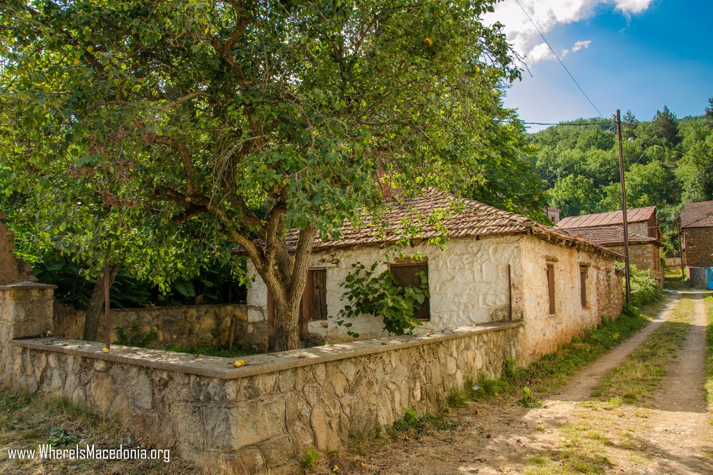
{"label": "front stone boundary wall with angled corner, including its flat top", "polygon": [[292,473],[309,447],[342,446],[349,437],[393,424],[404,408],[441,407],[467,377],[499,377],[518,361],[521,323],[493,323],[232,359],[67,338],[14,340],[2,385],[116,417],[211,464],[238,474]]}

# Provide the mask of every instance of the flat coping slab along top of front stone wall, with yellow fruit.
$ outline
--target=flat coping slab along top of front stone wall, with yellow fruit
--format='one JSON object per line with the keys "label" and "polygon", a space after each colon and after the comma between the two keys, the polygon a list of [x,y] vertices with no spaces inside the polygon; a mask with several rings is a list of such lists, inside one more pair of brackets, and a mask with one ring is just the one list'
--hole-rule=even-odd
{"label": "flat coping slab along top of front stone wall, with yellow fruit", "polygon": [[390,350],[429,345],[469,335],[491,333],[509,328],[517,328],[522,322],[482,323],[458,328],[447,328],[424,335],[406,335],[376,338],[374,340],[335,343],[303,350],[282,351],[265,355],[242,357],[245,366],[233,367],[235,358],[200,356],[188,353],[174,353],[163,350],[149,350],[129,346],[112,345],[110,353],[102,353],[103,343],[76,340],[73,338],[29,338],[12,340],[12,345],[56,353],[66,353],[97,360],[126,363],[129,365],[153,367],[159,370],[185,372],[194,375],[232,380],[269,372],[289,370],[294,367],[316,365],[322,362],[343,360],[350,357],[373,355]]}

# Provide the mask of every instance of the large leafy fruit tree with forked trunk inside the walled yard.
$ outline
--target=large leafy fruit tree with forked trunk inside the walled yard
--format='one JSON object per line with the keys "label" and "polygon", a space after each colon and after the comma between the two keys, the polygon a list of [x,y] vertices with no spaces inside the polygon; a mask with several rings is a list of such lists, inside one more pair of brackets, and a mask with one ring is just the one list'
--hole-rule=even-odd
{"label": "large leafy fruit tree with forked trunk inside the walled yard", "polygon": [[379,169],[414,193],[483,187],[486,165],[514,160],[489,147],[512,135],[501,88],[520,75],[501,25],[481,21],[494,3],[6,2],[18,186],[58,164],[106,169],[203,220],[245,249],[279,348],[298,348],[314,239],[378,211]]}

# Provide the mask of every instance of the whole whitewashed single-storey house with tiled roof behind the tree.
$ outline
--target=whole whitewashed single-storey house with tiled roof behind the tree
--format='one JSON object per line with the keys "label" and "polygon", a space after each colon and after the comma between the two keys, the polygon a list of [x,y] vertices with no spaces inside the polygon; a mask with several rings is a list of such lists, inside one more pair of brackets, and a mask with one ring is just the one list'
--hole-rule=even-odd
{"label": "whole whitewashed single-storey house with tiled roof behind the tree", "polygon": [[[441,251],[427,241],[439,234],[433,225],[425,224],[425,218],[452,209],[454,202],[461,208],[441,221],[450,239]],[[414,216],[424,218],[424,227],[407,251],[420,252],[424,259],[382,262],[386,248],[403,236],[403,219]],[[338,241],[315,241],[301,312],[305,344],[352,339],[334,317],[344,308],[340,284],[358,262],[366,266],[380,262],[379,272],[390,268],[406,285],[417,272],[427,274],[430,298],[419,308],[423,325],[417,333],[523,320],[526,359],[550,353],[605,315],[620,313],[622,291],[615,261],[621,256],[526,216],[431,191],[403,203],[391,202],[383,221],[379,229],[347,224]],[[293,244],[294,236],[287,241]],[[255,273],[250,262],[248,272]],[[265,308],[268,319],[274,319],[260,276],[247,291],[247,303]],[[385,336],[378,318],[361,315],[349,321],[361,339]],[[268,321],[268,327],[272,325]]]}

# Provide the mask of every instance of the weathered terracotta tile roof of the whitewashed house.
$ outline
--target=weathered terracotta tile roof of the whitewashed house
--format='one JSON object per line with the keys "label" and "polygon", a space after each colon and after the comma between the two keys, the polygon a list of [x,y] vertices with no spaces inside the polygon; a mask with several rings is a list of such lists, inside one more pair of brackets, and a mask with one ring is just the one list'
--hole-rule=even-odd
{"label": "weathered terracotta tile roof of the whitewashed house", "polygon": [[[431,239],[441,236],[434,224],[429,223],[429,216],[438,212],[456,210],[441,217],[440,224],[446,228],[450,239],[469,236],[491,236],[503,234],[533,234],[548,241],[568,241],[570,244],[582,244],[611,257],[619,254],[604,246],[587,241],[577,236],[565,234],[550,226],[539,224],[527,216],[503,211],[473,199],[458,198],[453,194],[427,190],[421,196],[392,201],[381,214],[379,224],[374,226],[352,227],[349,223],[342,226],[338,240],[322,241],[315,239],[314,251],[337,247],[396,243],[404,236],[403,221],[418,223],[418,238]],[[366,221],[366,220],[365,220]],[[285,241],[289,251],[294,251],[299,231],[291,231]]]}

